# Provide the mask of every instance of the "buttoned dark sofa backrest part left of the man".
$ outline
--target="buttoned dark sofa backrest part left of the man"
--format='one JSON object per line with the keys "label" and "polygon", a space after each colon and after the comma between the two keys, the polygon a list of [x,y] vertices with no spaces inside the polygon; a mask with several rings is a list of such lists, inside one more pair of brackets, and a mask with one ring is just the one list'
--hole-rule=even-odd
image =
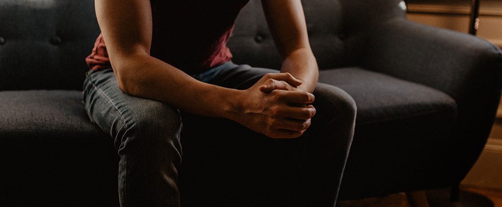
{"label": "buttoned dark sofa backrest part left of the man", "polygon": [[82,89],[93,0],[0,0],[0,90]]}

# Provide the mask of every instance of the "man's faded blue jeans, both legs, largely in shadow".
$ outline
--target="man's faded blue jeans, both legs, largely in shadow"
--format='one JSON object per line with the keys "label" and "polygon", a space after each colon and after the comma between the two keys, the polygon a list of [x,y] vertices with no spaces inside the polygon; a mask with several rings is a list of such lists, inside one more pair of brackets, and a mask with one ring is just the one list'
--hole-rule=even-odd
{"label": "man's faded blue jeans, both legs, largely in shadow", "polygon": [[[228,62],[193,77],[247,89],[277,72]],[[127,95],[112,69],[89,71],[83,101],[91,121],[117,148],[120,206],[334,206],[355,103],[321,83],[314,95],[312,125],[286,140]]]}

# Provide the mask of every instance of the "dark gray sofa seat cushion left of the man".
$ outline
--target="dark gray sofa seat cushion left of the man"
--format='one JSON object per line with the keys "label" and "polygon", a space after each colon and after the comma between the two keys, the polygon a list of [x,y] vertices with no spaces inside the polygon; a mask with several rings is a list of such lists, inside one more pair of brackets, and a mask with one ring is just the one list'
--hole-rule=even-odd
{"label": "dark gray sofa seat cushion left of the man", "polygon": [[0,92],[0,133],[4,135],[86,135],[82,141],[102,135],[82,104],[81,91]]}

